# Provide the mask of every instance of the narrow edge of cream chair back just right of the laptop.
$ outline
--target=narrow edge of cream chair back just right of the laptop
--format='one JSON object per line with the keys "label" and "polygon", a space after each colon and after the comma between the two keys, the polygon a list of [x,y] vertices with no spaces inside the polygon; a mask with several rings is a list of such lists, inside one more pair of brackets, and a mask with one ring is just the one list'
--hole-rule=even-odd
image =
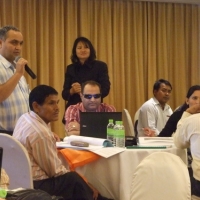
{"label": "narrow edge of cream chair back just right of the laptop", "polygon": [[122,112],[122,119],[125,128],[125,135],[126,136],[135,136],[134,129],[133,129],[133,122],[131,116],[127,109],[124,109]]}

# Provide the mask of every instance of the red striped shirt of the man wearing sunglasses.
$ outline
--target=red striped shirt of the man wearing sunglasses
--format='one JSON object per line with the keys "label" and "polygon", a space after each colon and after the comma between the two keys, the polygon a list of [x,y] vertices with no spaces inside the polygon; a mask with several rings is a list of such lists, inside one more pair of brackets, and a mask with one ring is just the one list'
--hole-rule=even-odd
{"label": "red striped shirt of the man wearing sunglasses", "polygon": [[[68,124],[73,121],[80,123],[80,112],[86,112],[83,103],[77,103],[67,108],[65,112],[65,126],[68,129]],[[101,103],[97,108],[96,112],[116,112],[116,108],[106,103]]]}

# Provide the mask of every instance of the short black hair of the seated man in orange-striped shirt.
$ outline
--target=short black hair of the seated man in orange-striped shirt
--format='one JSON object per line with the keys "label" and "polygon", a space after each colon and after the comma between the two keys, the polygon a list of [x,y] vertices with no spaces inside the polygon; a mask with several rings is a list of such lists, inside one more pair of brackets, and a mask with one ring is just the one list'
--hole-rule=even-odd
{"label": "short black hair of the seated man in orange-striped shirt", "polygon": [[51,86],[48,85],[38,85],[36,86],[29,95],[29,106],[33,111],[33,102],[37,102],[42,105],[49,95],[58,95],[58,92]]}

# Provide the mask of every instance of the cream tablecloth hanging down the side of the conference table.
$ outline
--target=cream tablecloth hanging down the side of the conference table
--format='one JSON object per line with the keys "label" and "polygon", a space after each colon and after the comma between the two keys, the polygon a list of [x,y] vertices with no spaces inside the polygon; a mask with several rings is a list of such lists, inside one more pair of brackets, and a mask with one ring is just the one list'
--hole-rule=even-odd
{"label": "cream tablecloth hanging down the side of the conference table", "polygon": [[[131,182],[139,163],[153,152],[164,151],[179,156],[187,164],[187,152],[176,147],[166,149],[126,149],[109,158],[98,160],[76,168],[100,193],[115,200],[129,200]],[[170,166],[169,166],[170,167]]]}

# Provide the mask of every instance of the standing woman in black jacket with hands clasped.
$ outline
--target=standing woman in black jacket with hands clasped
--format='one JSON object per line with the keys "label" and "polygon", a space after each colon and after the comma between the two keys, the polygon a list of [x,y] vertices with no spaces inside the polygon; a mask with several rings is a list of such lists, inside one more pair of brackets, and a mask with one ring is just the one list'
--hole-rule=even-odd
{"label": "standing woman in black jacket with hands clasped", "polygon": [[107,64],[96,60],[96,52],[92,43],[85,37],[74,41],[71,55],[72,64],[67,66],[62,97],[67,101],[66,108],[81,102],[81,84],[93,80],[101,85],[102,98],[110,91]]}

